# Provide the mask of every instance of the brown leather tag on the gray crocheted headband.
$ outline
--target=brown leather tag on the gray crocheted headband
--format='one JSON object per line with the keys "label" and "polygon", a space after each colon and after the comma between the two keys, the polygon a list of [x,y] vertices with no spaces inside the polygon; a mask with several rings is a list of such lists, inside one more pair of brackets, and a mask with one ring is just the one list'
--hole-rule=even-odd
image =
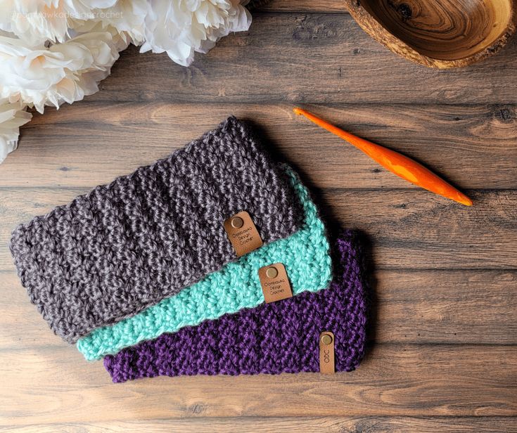
{"label": "brown leather tag on the gray crocheted headband", "polygon": [[262,247],[262,238],[253,224],[250,214],[238,212],[224,221],[224,230],[233,245],[237,257]]}

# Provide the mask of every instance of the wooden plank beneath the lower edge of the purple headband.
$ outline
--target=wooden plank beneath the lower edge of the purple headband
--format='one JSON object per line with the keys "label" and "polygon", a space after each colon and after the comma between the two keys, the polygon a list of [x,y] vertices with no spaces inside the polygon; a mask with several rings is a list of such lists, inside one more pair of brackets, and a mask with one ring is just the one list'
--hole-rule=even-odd
{"label": "wooden plank beneath the lower edge of the purple headband", "polygon": [[[186,417],[517,415],[517,347],[375,344],[352,373],[155,377],[110,383],[72,347],[8,351],[8,425]],[[8,374],[6,374],[8,373]],[[30,381],[27,380],[30,373]]]}

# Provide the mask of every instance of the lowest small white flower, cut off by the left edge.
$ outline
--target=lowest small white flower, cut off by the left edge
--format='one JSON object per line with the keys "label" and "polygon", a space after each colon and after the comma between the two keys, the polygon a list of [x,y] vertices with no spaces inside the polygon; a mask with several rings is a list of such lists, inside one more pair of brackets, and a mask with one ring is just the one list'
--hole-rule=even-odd
{"label": "lowest small white flower, cut off by the left edge", "polygon": [[22,103],[0,99],[0,162],[18,146],[20,127],[32,118]]}

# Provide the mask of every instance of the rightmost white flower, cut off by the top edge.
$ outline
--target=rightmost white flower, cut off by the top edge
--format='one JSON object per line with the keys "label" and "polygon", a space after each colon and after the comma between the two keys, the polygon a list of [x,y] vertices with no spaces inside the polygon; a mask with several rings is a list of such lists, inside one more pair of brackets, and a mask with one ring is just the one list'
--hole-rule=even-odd
{"label": "rightmost white flower, cut off by the top edge", "polygon": [[188,66],[194,51],[207,53],[221,37],[248,30],[250,24],[240,0],[149,0],[141,52],[165,51]]}

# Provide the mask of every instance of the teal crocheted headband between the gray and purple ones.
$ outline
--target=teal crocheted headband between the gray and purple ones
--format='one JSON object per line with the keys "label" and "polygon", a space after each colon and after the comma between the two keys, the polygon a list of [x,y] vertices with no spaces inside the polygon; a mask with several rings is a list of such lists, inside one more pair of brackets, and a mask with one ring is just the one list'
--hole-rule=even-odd
{"label": "teal crocheted headband between the gray and purple ones", "polygon": [[246,254],[136,316],[94,330],[77,342],[77,348],[85,358],[94,360],[115,354],[124,347],[151,340],[163,332],[175,332],[187,325],[197,325],[206,319],[257,306],[264,302],[257,278],[257,271],[262,266],[283,263],[293,295],[328,287],[332,263],[324,224],[298,176],[284,167],[302,202],[304,220],[300,231]]}

